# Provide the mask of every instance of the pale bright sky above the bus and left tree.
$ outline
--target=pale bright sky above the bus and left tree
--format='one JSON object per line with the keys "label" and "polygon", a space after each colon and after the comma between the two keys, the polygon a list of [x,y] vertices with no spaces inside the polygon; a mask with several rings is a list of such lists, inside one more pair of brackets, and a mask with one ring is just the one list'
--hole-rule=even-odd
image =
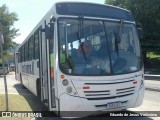
{"label": "pale bright sky above the bus and left tree", "polygon": [[[59,0],[0,0],[0,6],[6,4],[9,11],[15,12],[19,19],[14,23],[14,27],[19,29],[20,35],[13,41],[22,43],[43,16],[50,10],[53,4],[58,1]],[[104,4],[105,0],[80,1]]]}

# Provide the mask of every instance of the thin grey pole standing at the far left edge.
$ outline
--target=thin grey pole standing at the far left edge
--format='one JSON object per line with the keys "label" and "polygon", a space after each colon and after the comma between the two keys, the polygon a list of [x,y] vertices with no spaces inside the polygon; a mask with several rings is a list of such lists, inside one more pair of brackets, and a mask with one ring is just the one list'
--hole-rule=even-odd
{"label": "thin grey pole standing at the far left edge", "polygon": [[3,74],[4,74],[6,111],[8,111],[8,90],[7,90],[7,80],[6,80],[5,65],[4,65],[3,44],[4,44],[4,38],[3,38],[3,35],[1,33],[1,31],[0,31],[0,48],[1,48],[0,50],[1,50],[2,67],[3,67]]}

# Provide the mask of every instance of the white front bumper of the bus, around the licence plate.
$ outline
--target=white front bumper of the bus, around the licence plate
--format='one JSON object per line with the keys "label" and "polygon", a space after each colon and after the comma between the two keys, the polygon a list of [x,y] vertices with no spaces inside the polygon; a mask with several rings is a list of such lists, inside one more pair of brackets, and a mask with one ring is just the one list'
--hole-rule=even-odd
{"label": "white front bumper of the bus, around the licence plate", "polygon": [[[65,117],[84,117],[89,115],[101,114],[104,112],[121,111],[127,108],[138,107],[142,104],[144,97],[144,86],[133,95],[116,99],[106,100],[87,100],[63,94],[60,96],[60,115]],[[108,109],[108,103],[121,101],[121,107]],[[125,101],[125,102],[124,102]],[[127,102],[126,102],[127,101]]]}

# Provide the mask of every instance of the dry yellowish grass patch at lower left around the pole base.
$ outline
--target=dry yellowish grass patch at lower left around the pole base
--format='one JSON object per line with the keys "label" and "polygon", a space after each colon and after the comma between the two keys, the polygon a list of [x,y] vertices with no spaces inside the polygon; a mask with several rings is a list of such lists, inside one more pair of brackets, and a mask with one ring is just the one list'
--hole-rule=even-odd
{"label": "dry yellowish grass patch at lower left around the pole base", "polygon": [[[34,95],[8,95],[8,111],[38,111],[38,98]],[[5,95],[0,94],[0,111],[5,111]],[[0,117],[0,120],[30,120],[31,118],[5,118]]]}

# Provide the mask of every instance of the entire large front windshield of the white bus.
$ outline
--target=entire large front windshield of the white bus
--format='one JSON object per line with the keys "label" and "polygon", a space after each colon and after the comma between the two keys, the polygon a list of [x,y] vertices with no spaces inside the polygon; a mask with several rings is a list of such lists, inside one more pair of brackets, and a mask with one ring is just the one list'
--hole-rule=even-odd
{"label": "entire large front windshield of the white bus", "polygon": [[59,18],[58,30],[59,66],[65,74],[126,74],[142,67],[132,23]]}

